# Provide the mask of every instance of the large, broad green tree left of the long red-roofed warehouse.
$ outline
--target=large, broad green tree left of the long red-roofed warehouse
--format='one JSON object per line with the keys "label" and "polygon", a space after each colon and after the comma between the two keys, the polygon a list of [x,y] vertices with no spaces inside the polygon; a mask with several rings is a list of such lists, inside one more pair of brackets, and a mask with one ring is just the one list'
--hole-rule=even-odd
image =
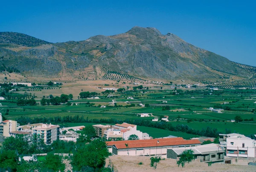
{"label": "large, broad green tree left of the long red-roofed warehouse", "polygon": [[95,139],[89,144],[83,144],[74,152],[71,164],[74,171],[81,171],[84,168],[96,169],[97,171],[104,168],[106,158],[110,155],[106,143],[100,139]]}

